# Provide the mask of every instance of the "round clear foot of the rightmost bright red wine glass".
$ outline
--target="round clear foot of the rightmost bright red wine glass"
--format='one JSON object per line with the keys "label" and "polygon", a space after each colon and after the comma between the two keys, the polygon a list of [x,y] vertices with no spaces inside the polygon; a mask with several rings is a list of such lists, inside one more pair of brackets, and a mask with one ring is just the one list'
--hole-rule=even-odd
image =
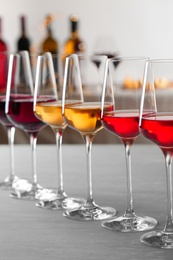
{"label": "round clear foot of the rightmost bright red wine glass", "polygon": [[151,231],[141,237],[141,242],[147,246],[173,249],[173,233],[166,233],[164,231]]}

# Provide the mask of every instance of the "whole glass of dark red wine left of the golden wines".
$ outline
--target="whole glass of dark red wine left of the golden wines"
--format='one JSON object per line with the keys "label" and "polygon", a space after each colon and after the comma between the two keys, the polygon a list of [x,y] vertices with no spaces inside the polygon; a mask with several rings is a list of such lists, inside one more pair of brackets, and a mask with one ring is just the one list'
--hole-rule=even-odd
{"label": "whole glass of dark red wine left of the golden wines", "polygon": [[33,77],[27,51],[10,54],[6,91],[5,113],[12,124],[23,129],[30,137],[32,148],[33,180],[20,179],[13,184],[11,197],[35,199],[42,187],[37,183],[36,142],[39,131],[45,126],[33,112]]}

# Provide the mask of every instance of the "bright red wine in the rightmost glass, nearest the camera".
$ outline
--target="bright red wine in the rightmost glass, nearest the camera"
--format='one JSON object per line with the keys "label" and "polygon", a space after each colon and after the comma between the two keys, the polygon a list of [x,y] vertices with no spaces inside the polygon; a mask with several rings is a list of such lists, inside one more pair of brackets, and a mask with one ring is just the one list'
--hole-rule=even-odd
{"label": "bright red wine in the rightmost glass, nearest the camera", "polygon": [[140,132],[163,151],[173,153],[173,113],[158,113],[142,118]]}

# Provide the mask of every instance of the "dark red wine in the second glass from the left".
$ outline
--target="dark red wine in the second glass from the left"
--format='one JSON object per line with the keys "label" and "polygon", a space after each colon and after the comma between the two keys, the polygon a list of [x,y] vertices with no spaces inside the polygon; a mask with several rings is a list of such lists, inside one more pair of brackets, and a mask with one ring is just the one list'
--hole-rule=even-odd
{"label": "dark red wine in the second glass from the left", "polygon": [[12,95],[7,113],[9,120],[27,133],[37,133],[45,124],[33,112],[33,97],[30,95]]}

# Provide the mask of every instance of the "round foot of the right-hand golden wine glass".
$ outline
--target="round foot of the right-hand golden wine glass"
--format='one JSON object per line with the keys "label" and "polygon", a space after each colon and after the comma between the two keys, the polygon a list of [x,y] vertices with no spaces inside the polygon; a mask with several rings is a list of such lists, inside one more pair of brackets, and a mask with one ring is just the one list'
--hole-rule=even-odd
{"label": "round foot of the right-hand golden wine glass", "polygon": [[100,207],[93,202],[86,203],[77,210],[66,210],[63,215],[72,220],[103,220],[115,216],[116,210],[110,207]]}

